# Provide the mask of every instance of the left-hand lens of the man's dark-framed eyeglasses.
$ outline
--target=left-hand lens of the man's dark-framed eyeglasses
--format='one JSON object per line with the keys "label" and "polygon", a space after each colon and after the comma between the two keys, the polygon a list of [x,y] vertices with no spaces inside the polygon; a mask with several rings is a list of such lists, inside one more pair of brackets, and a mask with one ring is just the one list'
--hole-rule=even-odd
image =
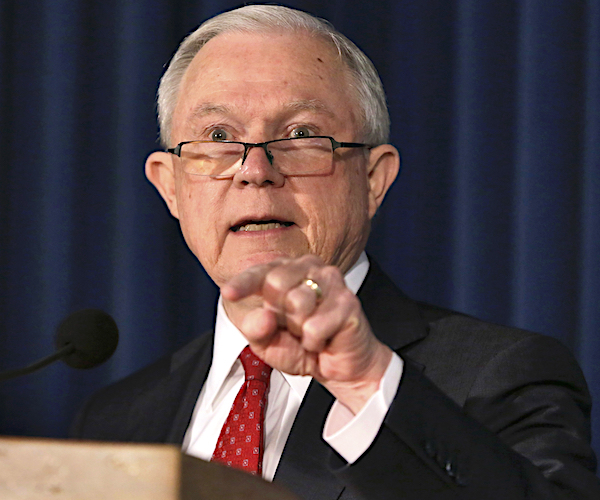
{"label": "left-hand lens of the man's dark-framed eyeglasses", "polygon": [[244,154],[243,144],[228,142],[190,142],[181,147],[183,170],[192,175],[230,176]]}

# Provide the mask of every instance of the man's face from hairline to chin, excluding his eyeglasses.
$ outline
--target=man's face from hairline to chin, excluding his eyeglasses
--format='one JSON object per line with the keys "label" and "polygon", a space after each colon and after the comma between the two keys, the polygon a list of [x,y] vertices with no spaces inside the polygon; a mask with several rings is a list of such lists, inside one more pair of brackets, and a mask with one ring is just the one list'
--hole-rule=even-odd
{"label": "man's face from hairline to chin, excluding his eyeglasses", "polygon": [[[256,143],[298,134],[356,142],[357,110],[346,71],[323,41],[227,33],[209,41],[188,68],[171,145],[215,138]],[[219,286],[280,256],[312,253],[347,271],[364,248],[379,203],[370,196],[364,149],[337,150],[325,173],[284,177],[276,161],[271,165],[261,148],[253,148],[232,179],[186,174],[178,157],[154,155],[159,161],[151,155],[148,176]]]}

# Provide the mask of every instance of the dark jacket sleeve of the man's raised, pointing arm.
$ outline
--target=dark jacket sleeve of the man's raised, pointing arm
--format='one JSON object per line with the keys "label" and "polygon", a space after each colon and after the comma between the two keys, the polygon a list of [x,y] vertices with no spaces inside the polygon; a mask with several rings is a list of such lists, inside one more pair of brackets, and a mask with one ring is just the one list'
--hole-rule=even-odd
{"label": "dark jacket sleeve of the man's raised, pointing arm", "polygon": [[557,341],[496,353],[461,408],[407,362],[372,446],[338,478],[365,499],[600,499],[590,396]]}

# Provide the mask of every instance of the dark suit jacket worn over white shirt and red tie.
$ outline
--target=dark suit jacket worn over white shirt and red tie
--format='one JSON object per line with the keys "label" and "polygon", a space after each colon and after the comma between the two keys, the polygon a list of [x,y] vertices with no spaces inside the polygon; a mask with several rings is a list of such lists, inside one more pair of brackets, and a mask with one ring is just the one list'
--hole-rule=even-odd
{"label": "dark suit jacket worn over white shirt and red tie", "polygon": [[[311,384],[275,481],[307,499],[600,499],[590,396],[556,340],[404,296],[372,263],[358,294],[405,362],[375,441],[348,466],[322,440],[332,396]],[[97,393],[73,437],[181,443],[212,333]]]}

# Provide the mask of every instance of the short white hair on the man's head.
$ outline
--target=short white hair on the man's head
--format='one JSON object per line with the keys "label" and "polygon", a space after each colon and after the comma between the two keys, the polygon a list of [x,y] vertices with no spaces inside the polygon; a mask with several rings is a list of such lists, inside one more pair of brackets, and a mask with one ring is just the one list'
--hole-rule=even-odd
{"label": "short white hair on the man's head", "polygon": [[171,59],[158,88],[158,122],[163,146],[170,146],[173,112],[183,76],[198,51],[226,32],[304,31],[333,44],[350,75],[362,120],[361,138],[371,145],[388,141],[390,117],[383,85],[371,60],[328,21],[278,5],[247,5],[209,19],[188,35]]}

